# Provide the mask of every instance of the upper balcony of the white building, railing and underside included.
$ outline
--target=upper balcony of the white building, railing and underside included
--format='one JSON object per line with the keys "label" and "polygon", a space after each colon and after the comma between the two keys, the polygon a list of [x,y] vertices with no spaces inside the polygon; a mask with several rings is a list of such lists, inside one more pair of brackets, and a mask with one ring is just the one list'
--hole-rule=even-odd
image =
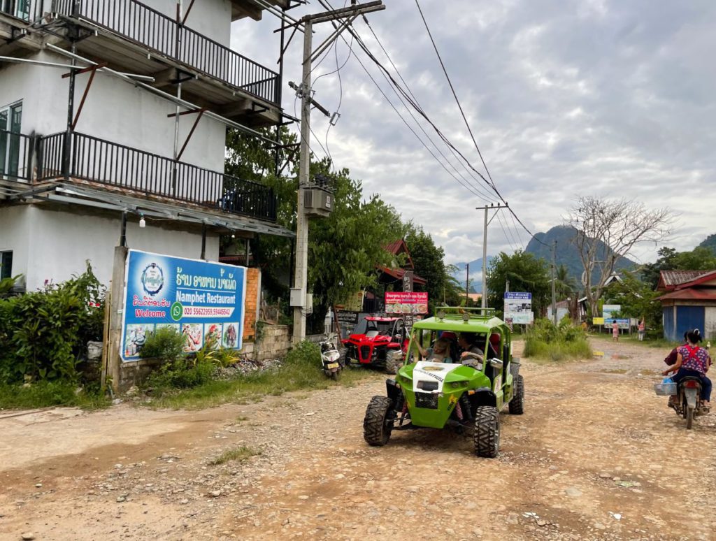
{"label": "upper balcony of the white building, railing and underside included", "polygon": [[139,1],[53,0],[52,10],[98,30],[77,43],[79,54],[153,76],[158,87],[181,78],[185,97],[247,125],[279,120],[279,74]]}

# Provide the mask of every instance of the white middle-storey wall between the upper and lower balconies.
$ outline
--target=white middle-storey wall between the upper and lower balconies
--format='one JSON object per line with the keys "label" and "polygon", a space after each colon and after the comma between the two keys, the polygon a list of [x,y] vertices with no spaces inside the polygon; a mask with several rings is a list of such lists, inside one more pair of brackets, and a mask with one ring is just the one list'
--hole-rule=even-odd
{"label": "white middle-storey wall between the upper and lower balconies", "polygon": [[[68,63],[66,58],[47,52],[32,58]],[[22,133],[49,135],[66,129],[69,79],[62,79],[62,73],[62,69],[32,64],[9,64],[0,69],[0,107],[22,101]],[[89,74],[77,77],[76,104],[82,98],[88,79]],[[170,158],[174,152],[174,119],[167,115],[175,109],[175,105],[165,99],[116,77],[97,73],[76,130]],[[193,115],[180,117],[179,147],[194,121]],[[226,127],[202,117],[182,161],[223,172],[225,141]]]}

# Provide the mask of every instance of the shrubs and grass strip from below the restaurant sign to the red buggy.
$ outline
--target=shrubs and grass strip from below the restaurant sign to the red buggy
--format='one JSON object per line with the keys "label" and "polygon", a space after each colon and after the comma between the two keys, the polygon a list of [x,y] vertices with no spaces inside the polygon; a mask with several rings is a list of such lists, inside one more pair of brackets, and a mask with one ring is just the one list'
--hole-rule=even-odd
{"label": "shrubs and grass strip from below the restaurant sign to the red buggy", "polygon": [[[148,396],[144,404],[153,408],[202,409],[229,402],[246,404],[261,401],[266,396],[328,389],[336,385],[326,378],[321,369],[319,347],[309,341],[294,346],[276,369],[251,372],[232,379],[213,378],[212,374],[219,366],[216,358],[197,360],[200,354],[196,359],[164,359],[163,366],[143,386],[142,390]],[[338,384],[352,386],[372,374],[367,370],[344,370]]]}

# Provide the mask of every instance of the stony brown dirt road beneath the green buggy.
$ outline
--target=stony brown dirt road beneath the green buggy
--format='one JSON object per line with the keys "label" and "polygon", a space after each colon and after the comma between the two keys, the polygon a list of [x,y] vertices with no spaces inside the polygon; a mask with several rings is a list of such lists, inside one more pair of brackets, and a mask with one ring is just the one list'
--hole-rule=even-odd
{"label": "stony brown dirt road beneath the green buggy", "polygon": [[[497,459],[450,432],[368,447],[379,374],[205,411],[0,412],[0,539],[715,539],[716,415],[687,432],[654,396],[665,352],[593,346],[523,364]],[[242,446],[261,454],[209,464]]]}

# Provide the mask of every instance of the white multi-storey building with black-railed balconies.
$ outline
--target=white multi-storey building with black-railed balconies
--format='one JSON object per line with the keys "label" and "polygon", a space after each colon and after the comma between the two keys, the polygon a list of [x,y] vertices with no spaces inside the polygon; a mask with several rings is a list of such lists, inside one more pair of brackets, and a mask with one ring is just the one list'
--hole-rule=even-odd
{"label": "white multi-storey building with black-railed balconies", "polygon": [[107,283],[122,242],[217,260],[222,234],[291,236],[269,188],[223,174],[227,125],[283,120],[231,21],[290,4],[0,0],[1,276],[32,291],[90,260]]}

